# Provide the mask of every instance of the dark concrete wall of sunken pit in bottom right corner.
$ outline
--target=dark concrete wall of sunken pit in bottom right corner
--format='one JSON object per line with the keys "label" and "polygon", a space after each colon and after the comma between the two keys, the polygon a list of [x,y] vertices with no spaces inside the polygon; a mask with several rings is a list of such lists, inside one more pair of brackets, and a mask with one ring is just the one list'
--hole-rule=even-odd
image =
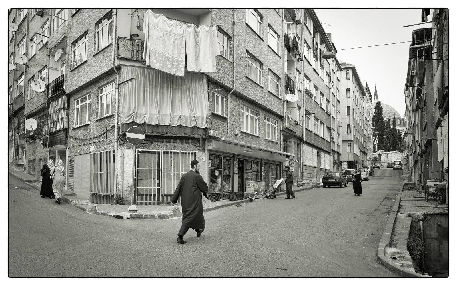
{"label": "dark concrete wall of sunken pit in bottom right corner", "polygon": [[430,275],[449,271],[449,216],[426,216],[423,222],[425,268]]}

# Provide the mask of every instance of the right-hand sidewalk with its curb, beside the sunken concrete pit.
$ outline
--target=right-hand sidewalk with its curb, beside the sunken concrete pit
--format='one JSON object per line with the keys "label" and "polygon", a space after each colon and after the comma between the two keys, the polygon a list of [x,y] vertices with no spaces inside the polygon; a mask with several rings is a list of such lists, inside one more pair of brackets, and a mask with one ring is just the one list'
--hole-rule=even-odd
{"label": "right-hand sidewalk with its curb, beside the sunken concrete pit", "polygon": [[[404,178],[407,177],[408,173],[404,170]],[[446,201],[440,205],[432,197],[426,202],[424,192],[414,190],[412,185],[412,182],[404,180],[400,187],[379,241],[377,260],[403,277],[431,277],[415,272],[407,249],[411,214],[447,213],[448,204]]]}

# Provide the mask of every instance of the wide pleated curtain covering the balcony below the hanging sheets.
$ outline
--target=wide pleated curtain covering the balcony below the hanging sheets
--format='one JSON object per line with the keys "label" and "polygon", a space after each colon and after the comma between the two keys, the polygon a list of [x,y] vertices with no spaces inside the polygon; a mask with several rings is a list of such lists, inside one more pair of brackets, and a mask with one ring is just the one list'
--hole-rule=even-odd
{"label": "wide pleated curtain covering the balcony below the hanging sheets", "polygon": [[208,127],[209,104],[204,74],[177,77],[157,69],[122,66],[121,123]]}

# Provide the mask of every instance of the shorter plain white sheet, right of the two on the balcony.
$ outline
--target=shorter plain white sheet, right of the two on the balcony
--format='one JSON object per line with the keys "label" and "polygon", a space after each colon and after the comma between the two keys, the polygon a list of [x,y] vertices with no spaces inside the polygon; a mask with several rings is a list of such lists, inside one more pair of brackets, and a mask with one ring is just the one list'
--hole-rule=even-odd
{"label": "shorter plain white sheet, right of the two on the balcony", "polygon": [[216,56],[220,54],[217,26],[186,24],[187,70],[216,72]]}

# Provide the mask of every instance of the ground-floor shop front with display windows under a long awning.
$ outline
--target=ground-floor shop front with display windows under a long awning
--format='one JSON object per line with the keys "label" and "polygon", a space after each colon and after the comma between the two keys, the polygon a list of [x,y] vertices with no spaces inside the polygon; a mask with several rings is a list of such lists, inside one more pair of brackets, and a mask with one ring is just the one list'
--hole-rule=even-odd
{"label": "ground-floor shop front with display windows under a long awning", "polygon": [[282,162],[291,156],[286,152],[259,150],[236,143],[208,142],[208,199],[227,200],[234,193],[240,198],[253,186],[255,191],[264,192],[281,178]]}

